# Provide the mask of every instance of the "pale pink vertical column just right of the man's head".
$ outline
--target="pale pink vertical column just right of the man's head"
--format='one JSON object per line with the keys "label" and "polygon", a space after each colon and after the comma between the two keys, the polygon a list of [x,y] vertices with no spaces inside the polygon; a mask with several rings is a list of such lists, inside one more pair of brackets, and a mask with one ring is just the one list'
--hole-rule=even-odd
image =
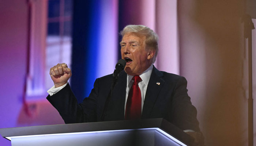
{"label": "pale pink vertical column just right of the man's head", "polygon": [[177,1],[159,0],[156,3],[156,32],[159,35],[157,67],[180,74],[177,27]]}

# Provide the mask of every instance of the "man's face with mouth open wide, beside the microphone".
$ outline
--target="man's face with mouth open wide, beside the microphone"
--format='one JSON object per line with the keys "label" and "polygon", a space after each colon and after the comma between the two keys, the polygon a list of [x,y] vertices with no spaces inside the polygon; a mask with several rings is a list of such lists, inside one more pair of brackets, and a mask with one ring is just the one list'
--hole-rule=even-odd
{"label": "man's face with mouth open wide, beside the microphone", "polygon": [[120,42],[122,59],[126,61],[124,70],[129,75],[140,75],[152,64],[155,51],[146,49],[145,40],[145,35],[127,32]]}

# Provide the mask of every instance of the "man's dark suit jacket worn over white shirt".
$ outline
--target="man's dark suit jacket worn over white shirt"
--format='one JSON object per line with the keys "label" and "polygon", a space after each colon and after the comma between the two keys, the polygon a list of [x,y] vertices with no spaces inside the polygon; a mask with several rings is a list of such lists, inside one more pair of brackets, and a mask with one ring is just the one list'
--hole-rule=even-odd
{"label": "man's dark suit jacket worn over white shirt", "polygon": [[[97,78],[89,97],[81,104],[77,104],[69,84],[46,98],[59,111],[65,123],[98,122],[111,84],[112,74]],[[123,71],[109,101],[105,121],[124,120],[126,84],[127,74]],[[165,118],[182,130],[200,131],[197,111],[187,91],[187,80],[184,77],[160,72],[154,67],[144,99],[142,119]]]}

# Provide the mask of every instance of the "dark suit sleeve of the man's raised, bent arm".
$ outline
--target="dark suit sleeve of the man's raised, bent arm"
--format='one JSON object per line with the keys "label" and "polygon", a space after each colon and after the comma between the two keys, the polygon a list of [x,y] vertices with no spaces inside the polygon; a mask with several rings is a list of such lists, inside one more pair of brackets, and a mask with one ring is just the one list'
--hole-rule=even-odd
{"label": "dark suit sleeve of the man's raised, bent arm", "polygon": [[98,79],[94,82],[89,97],[83,100],[83,103],[78,104],[74,93],[69,84],[52,96],[47,96],[46,99],[60,113],[66,124],[96,122],[97,120],[97,97],[98,97]]}

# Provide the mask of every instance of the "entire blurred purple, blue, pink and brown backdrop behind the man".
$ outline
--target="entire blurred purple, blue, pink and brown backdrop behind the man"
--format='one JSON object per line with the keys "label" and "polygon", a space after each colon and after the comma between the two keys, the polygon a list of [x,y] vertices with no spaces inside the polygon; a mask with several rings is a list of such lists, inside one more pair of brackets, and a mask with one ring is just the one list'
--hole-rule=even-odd
{"label": "entire blurred purple, blue, pink and brown backdrop behind the man", "polygon": [[[82,101],[95,78],[113,72],[120,58],[118,32],[127,24],[144,24],[159,35],[154,65],[187,78],[206,145],[248,145],[244,5],[241,0],[0,0],[0,128],[63,124],[45,99],[52,86],[49,68],[66,62],[73,72],[71,88]],[[253,30],[254,49],[255,36]],[[0,145],[11,143],[0,138]]]}

